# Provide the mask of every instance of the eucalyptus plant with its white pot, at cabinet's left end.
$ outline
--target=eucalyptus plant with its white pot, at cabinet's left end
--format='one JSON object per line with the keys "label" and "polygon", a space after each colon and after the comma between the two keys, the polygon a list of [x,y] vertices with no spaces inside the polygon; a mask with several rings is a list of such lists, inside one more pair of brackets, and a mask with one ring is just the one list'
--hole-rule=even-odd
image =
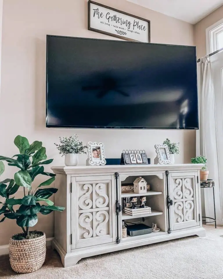
{"label": "eucalyptus plant with its white pot, at cabinet's left end", "polygon": [[59,154],[65,155],[65,165],[66,166],[77,166],[78,164],[78,154],[87,152],[84,149],[87,148],[82,142],[78,140],[78,135],[70,137],[60,137],[60,144],[55,144],[57,149],[60,151]]}

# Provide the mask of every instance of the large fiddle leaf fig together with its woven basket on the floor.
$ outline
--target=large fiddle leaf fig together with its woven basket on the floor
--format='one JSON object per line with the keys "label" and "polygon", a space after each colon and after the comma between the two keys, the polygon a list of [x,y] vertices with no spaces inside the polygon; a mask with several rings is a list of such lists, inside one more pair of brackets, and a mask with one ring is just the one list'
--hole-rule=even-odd
{"label": "large fiddle leaf fig together with its woven basket on the floor", "polygon": [[[39,269],[46,256],[46,235],[44,232],[30,231],[36,225],[37,214],[47,215],[54,210],[63,211],[64,207],[55,206],[48,198],[57,192],[55,188],[40,188],[49,186],[55,180],[55,174],[44,171],[44,166],[53,162],[47,159],[46,148],[42,142],[29,144],[26,137],[18,135],[14,140],[19,154],[12,158],[0,156],[0,160],[8,162],[9,166],[19,168],[14,179],[0,181],[0,196],[5,200],[0,203],[0,215],[3,222],[6,218],[15,219],[22,233],[13,235],[9,243],[9,257],[12,269],[17,273],[29,273]],[[4,164],[0,162],[0,175],[4,172]],[[44,182],[33,187],[37,175],[48,176]],[[23,187],[23,198],[15,198],[15,193]],[[41,203],[41,204],[40,204]],[[19,247],[19,248],[18,248]]]}

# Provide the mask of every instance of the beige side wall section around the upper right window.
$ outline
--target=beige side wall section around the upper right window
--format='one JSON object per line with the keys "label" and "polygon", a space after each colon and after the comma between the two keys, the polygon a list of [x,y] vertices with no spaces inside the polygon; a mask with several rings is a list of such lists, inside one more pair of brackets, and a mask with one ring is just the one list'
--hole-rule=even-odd
{"label": "beige side wall section around the upper right window", "polygon": [[206,28],[223,18],[223,6],[194,25],[194,42],[197,46],[197,58],[205,56],[206,53]]}

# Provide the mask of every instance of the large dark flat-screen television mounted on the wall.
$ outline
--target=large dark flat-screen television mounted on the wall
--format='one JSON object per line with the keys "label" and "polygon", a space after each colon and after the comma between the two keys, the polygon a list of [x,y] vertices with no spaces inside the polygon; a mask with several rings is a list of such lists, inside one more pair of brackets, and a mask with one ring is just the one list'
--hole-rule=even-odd
{"label": "large dark flat-screen television mounted on the wall", "polygon": [[197,129],[196,47],[47,35],[46,126]]}

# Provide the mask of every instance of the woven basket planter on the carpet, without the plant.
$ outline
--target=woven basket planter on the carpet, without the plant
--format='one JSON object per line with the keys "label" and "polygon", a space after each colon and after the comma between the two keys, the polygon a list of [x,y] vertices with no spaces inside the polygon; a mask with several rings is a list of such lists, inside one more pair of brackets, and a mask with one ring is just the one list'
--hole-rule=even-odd
{"label": "woven basket planter on the carpet, without the plant", "polygon": [[[23,235],[18,233],[16,235]],[[17,273],[30,273],[42,267],[46,257],[46,235],[33,239],[9,242],[9,259],[12,269]]]}

